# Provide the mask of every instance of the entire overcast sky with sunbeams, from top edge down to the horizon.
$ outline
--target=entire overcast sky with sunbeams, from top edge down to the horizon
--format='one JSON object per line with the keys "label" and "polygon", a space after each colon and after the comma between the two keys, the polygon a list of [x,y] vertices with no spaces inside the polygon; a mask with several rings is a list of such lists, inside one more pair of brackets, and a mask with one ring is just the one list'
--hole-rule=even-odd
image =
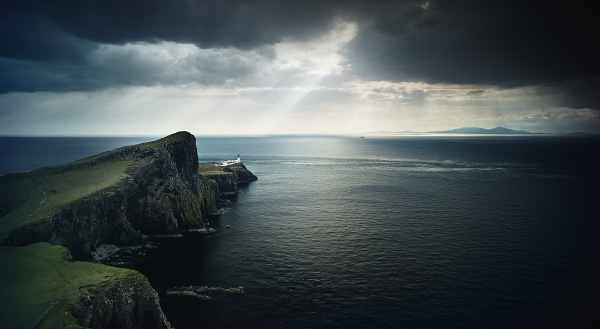
{"label": "entire overcast sky with sunbeams, from top edge down to the horizon", "polygon": [[0,135],[600,132],[594,1],[0,1]]}

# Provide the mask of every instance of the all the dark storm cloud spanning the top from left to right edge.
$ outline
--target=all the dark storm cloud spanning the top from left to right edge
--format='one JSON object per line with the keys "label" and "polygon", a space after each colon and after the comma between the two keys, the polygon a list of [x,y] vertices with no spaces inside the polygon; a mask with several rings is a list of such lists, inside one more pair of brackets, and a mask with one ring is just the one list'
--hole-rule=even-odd
{"label": "all the dark storm cloud spanning the top from left to right edge", "polygon": [[106,77],[111,67],[94,69],[90,54],[163,41],[250,50],[311,40],[343,19],[358,24],[344,52],[357,77],[544,86],[567,106],[600,108],[596,16],[593,1],[3,1],[0,91],[175,83],[156,62]]}

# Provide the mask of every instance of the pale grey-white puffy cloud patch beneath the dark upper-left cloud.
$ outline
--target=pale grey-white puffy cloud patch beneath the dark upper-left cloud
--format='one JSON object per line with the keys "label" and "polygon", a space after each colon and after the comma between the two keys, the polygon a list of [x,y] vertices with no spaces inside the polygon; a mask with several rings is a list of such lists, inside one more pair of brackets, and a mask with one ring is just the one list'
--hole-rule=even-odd
{"label": "pale grey-white puffy cloud patch beneath the dark upper-left cloud", "polygon": [[270,60],[258,50],[201,49],[173,42],[102,45],[89,59],[97,78],[142,86],[222,85],[255,74]]}

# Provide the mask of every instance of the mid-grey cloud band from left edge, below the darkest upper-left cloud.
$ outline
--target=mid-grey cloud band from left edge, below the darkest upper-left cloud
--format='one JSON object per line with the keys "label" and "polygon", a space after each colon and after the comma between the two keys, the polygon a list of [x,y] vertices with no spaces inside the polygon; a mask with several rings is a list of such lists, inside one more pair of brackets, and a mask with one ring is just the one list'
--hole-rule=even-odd
{"label": "mid-grey cloud band from left edge, below the darkest upper-left cloud", "polygon": [[[102,46],[81,63],[38,63],[0,57],[0,79],[5,91],[84,91],[107,86],[158,84],[223,84],[253,74],[265,59],[235,48],[198,49],[181,45]],[[171,53],[169,53],[171,51]]]}

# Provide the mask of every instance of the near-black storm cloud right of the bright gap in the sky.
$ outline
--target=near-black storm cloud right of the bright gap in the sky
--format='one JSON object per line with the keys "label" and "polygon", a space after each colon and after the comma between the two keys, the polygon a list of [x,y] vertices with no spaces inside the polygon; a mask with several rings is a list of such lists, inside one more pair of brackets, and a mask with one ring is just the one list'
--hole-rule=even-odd
{"label": "near-black storm cloud right of the bright gap in the sky", "polygon": [[372,80],[539,85],[600,108],[592,1],[428,1],[377,13],[346,48]]}

